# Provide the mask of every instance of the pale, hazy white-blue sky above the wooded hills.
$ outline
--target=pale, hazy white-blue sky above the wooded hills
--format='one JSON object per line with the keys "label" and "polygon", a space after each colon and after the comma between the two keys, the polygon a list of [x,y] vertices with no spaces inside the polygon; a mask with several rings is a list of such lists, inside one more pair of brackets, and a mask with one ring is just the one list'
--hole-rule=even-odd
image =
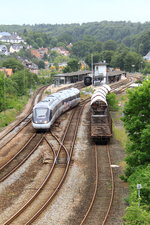
{"label": "pale, hazy white-blue sky above the wooded hills", "polygon": [[0,0],[0,24],[150,22],[150,0]]}

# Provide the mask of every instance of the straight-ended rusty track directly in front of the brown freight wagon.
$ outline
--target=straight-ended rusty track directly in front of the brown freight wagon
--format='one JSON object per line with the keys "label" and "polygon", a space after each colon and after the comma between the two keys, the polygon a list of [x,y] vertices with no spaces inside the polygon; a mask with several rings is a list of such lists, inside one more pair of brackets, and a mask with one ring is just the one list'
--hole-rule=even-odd
{"label": "straight-ended rusty track directly in front of the brown freight wagon", "polygon": [[[94,145],[93,148],[95,154],[95,188],[80,225],[97,224],[97,221],[100,225],[105,225],[114,198],[115,183],[109,145]],[[95,212],[97,212],[96,215]]]}

